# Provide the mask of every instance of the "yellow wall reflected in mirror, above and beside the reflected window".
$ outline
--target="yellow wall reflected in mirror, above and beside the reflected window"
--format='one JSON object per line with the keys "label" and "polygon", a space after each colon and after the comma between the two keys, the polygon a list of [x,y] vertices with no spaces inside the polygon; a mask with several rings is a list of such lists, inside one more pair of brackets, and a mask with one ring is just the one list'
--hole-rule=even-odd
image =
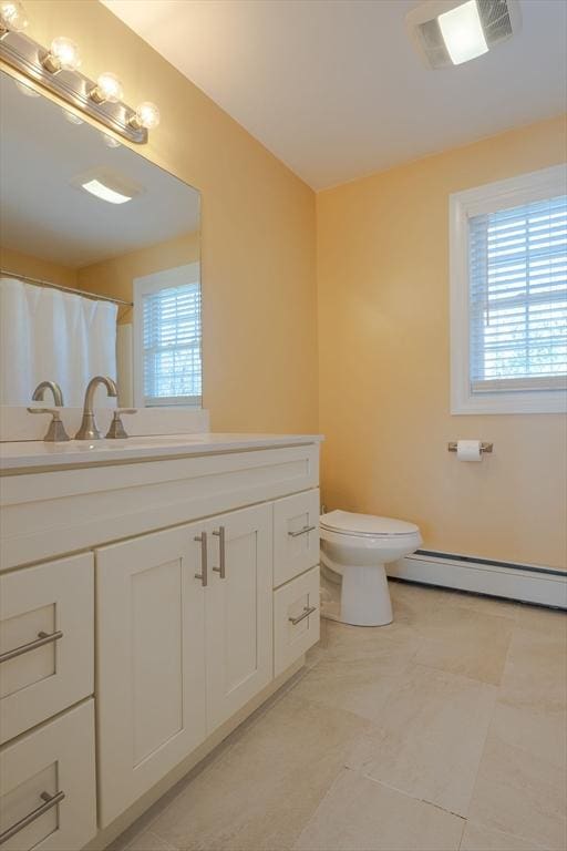
{"label": "yellow wall reflected in mirror, above and beside the reflected window", "polygon": [[[199,259],[198,233],[177,236],[164,243],[148,245],[110,260],[93,263],[76,270],[76,286],[91,293],[133,301],[133,280],[143,275],[173,269]],[[132,321],[132,308],[121,307],[118,322]]]}

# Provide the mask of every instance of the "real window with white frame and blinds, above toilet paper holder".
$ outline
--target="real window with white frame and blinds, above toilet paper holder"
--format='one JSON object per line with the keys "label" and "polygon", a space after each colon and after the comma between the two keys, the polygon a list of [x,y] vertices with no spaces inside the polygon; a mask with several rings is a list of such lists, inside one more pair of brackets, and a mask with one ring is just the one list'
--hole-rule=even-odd
{"label": "real window with white frame and blinds, above toilet paper holder", "polygon": [[567,167],[450,212],[452,413],[567,410]]}

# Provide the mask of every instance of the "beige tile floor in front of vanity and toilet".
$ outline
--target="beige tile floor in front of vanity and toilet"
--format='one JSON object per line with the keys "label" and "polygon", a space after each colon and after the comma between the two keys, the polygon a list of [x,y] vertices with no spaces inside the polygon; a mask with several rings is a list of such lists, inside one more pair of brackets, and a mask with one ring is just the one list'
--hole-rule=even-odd
{"label": "beige tile floor in front of vanity and toilet", "polygon": [[565,851],[567,616],[390,583],[115,851]]}

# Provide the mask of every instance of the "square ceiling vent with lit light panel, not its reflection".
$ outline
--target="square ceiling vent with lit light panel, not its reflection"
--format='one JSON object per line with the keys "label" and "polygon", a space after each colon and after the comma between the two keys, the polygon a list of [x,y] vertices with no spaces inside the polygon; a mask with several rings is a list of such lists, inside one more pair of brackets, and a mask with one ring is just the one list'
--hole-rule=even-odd
{"label": "square ceiling vent with lit light panel, not its reflection", "polygon": [[517,34],[517,0],[429,0],[405,18],[427,68],[460,65]]}

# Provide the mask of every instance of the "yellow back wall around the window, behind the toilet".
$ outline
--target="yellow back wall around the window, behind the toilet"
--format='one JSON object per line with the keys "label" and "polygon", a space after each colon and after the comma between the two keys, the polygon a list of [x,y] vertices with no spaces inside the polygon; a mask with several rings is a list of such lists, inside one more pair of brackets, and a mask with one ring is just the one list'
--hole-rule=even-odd
{"label": "yellow back wall around the window, behind the toilet", "polygon": [[[557,119],[318,195],[329,506],[414,521],[432,548],[565,566],[566,418],[452,417],[449,355],[449,194],[565,154]],[[457,462],[458,438],[494,455]]]}

